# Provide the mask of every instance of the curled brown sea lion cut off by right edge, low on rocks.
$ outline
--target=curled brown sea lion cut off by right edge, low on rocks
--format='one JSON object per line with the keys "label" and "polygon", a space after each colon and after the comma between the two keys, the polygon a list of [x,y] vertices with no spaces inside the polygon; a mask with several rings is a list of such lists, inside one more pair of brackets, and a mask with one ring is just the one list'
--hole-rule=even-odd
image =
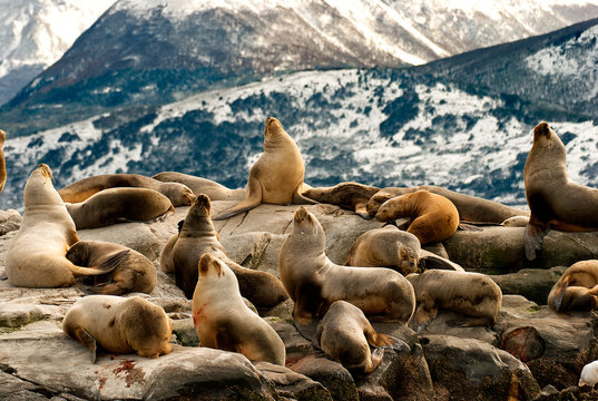
{"label": "curled brown sea lion cut off by right edge, low on rocks", "polygon": [[581,261],[569,266],[550,290],[547,304],[557,312],[596,310],[598,261]]}

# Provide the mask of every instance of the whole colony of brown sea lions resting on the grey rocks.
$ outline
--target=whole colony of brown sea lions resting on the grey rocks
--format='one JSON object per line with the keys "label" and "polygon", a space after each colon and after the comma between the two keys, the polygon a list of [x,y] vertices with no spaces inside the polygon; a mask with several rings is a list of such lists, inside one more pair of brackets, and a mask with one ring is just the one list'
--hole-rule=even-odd
{"label": "whole colony of brown sea lions resting on the grey rocks", "polygon": [[[272,306],[290,296],[302,334],[352,372],[363,374],[380,363],[379,352],[370,346],[409,349],[398,339],[376,333],[369,319],[395,324],[414,321],[413,326],[421,327],[440,310],[449,310],[462,315],[458,325],[492,325],[497,321],[500,288],[483,274],[464,272],[437,255],[432,262],[421,263],[428,257],[421,250],[423,243],[447,238],[460,222],[501,225],[514,217],[527,227],[525,256],[532,260],[541,252],[549,229],[598,229],[598,214],[594,213],[598,190],[569,179],[565,146],[546,123],[533,130],[525,167],[529,217],[523,211],[433,186],[381,189],[341,183],[332,188],[308,188],[298,148],[282,124],[268,118],[264,136],[264,154],[251,169],[246,190],[175,172],[154,178],[89,177],[56,190],[50,168],[41,164],[24,187],[23,222],[6,260],[9,282],[29,287],[70,286],[77,277],[91,276],[91,292],[112,295],[89,295],[77,302],[63,321],[65,333],[89,348],[92,361],[98,345],[109,352],[135,351],[158,358],[171,350],[171,325],[164,310],[137,297],[125,301],[115,296],[150,293],[156,285],[151,263],[121,245],[79,242],[76,229],[164,218],[174,206],[190,205],[178,234],[161,250],[160,267],[174,274],[176,284],[193,299],[194,323],[203,345],[239,352],[252,361],[284,364],[281,339],[245,305],[242,295],[257,306]],[[2,144],[4,138],[0,130]],[[1,150],[0,156],[1,190],[7,173]],[[405,217],[408,229],[388,227],[365,233],[346,263],[357,267],[335,265],[324,253],[322,225],[305,207],[298,207],[293,231],[280,252],[280,281],[226,256],[212,224],[209,196],[239,200],[215,219],[262,203],[325,202],[390,224]],[[570,207],[570,198],[581,207]],[[129,202],[135,202],[134,208]],[[597,266],[598,261],[571,266],[550,292],[549,306],[560,312],[597,309]],[[347,354],[347,349],[352,353]]]}

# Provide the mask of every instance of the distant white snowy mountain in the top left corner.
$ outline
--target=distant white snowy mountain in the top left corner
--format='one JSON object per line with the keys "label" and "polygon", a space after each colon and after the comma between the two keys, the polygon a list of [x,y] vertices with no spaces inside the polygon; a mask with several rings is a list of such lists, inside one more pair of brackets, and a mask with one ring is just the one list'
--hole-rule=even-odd
{"label": "distant white snowy mountain in the top left corner", "polygon": [[0,0],[0,105],[57,61],[116,0]]}

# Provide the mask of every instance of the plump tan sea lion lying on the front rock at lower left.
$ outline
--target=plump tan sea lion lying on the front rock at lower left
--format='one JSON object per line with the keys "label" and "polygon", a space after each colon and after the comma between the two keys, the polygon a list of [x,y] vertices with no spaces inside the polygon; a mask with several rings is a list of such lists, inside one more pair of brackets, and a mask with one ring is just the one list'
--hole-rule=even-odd
{"label": "plump tan sea lion lying on the front rock at lower left", "polygon": [[139,296],[85,296],[67,312],[62,331],[91,351],[91,363],[96,363],[98,345],[108,352],[137,352],[146,358],[173,351],[173,325],[166,312]]}

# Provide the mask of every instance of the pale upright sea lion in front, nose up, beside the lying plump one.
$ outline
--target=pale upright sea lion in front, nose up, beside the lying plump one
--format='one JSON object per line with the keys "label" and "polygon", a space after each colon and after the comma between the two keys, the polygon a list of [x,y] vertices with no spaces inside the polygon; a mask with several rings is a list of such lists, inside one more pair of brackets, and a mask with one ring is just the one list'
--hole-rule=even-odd
{"label": "pale upright sea lion in front, nose up, beside the lying plump one", "polygon": [[274,329],[245,305],[233,271],[205,253],[193,293],[193,323],[203,346],[238,352],[249,361],[284,366],[286,351]]}

